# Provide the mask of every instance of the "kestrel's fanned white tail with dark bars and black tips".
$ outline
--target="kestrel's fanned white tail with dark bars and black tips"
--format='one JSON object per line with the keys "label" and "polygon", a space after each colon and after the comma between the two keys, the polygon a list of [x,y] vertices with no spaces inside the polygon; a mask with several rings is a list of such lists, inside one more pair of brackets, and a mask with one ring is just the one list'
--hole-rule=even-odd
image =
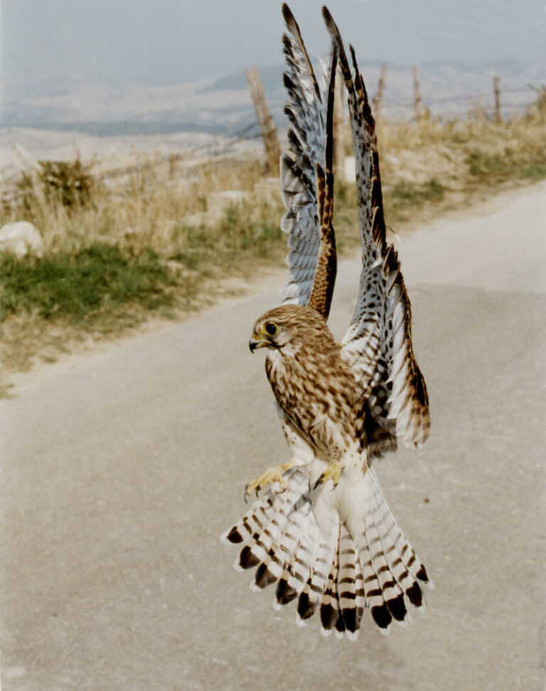
{"label": "kestrel's fanned white tail with dark bars and black tips", "polygon": [[331,490],[311,490],[306,468],[284,473],[222,536],[240,545],[237,571],[255,568],[250,587],[276,583],[274,607],[297,601],[299,623],[319,614],[321,632],[356,640],[363,611],[387,635],[394,619],[407,626],[410,602],[425,602],[427,571],[398,527],[375,473],[344,473]]}

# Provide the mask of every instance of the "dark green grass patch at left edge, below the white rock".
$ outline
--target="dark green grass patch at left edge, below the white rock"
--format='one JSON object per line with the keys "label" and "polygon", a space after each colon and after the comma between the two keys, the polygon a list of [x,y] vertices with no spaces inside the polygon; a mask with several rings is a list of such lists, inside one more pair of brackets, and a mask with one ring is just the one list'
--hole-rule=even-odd
{"label": "dark green grass patch at left edge, below the white rock", "polygon": [[44,320],[82,322],[97,312],[136,304],[146,310],[168,307],[175,283],[158,256],[122,253],[95,242],[75,253],[41,259],[0,257],[0,320],[22,312]]}

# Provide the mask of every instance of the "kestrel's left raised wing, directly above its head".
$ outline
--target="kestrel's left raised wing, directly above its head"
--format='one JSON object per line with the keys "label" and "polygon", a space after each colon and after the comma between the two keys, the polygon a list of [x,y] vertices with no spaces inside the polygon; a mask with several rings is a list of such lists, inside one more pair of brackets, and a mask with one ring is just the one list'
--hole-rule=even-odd
{"label": "kestrel's left raised wing, directly above its head", "polygon": [[[332,51],[328,82],[319,85],[288,6],[282,6],[289,34],[284,34],[289,95],[284,112],[291,127],[288,149],[281,159],[284,205],[281,221],[288,234],[289,283],[283,302],[308,305],[328,319],[336,282],[336,241],[332,226],[332,118],[337,56]],[[325,70],[326,71],[326,70]]]}

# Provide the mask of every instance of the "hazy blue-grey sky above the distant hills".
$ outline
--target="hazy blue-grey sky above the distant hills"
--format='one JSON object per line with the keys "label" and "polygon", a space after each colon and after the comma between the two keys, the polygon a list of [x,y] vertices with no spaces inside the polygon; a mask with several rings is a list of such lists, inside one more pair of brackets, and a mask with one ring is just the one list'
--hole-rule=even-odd
{"label": "hazy blue-grey sky above the distant hills", "polygon": [[[292,0],[312,54],[323,0]],[[360,60],[546,63],[544,0],[330,0]],[[5,76],[178,81],[282,62],[277,0],[1,0]]]}

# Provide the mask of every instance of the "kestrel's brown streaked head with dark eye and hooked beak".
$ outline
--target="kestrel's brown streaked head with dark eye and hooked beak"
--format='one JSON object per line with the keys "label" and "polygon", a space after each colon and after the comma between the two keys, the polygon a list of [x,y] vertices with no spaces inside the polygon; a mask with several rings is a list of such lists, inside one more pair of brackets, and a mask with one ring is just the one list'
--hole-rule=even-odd
{"label": "kestrel's brown streaked head with dark eye and hooked beak", "polygon": [[[326,324],[315,310],[301,305],[281,305],[259,317],[249,341],[251,352],[258,348],[282,349],[303,343],[311,332],[323,332]],[[329,333],[329,332],[328,332]]]}

